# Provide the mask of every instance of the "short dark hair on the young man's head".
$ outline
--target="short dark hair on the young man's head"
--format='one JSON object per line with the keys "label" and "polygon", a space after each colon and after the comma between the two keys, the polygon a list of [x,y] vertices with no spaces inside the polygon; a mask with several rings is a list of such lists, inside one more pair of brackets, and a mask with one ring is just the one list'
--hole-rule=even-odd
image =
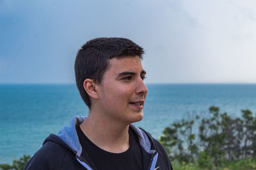
{"label": "short dark hair on the young man's head", "polygon": [[109,60],[124,56],[136,56],[143,59],[143,48],[127,38],[95,38],[88,41],[77,52],[75,62],[76,85],[84,103],[91,109],[90,96],[84,90],[83,83],[91,78],[101,83],[109,68]]}

